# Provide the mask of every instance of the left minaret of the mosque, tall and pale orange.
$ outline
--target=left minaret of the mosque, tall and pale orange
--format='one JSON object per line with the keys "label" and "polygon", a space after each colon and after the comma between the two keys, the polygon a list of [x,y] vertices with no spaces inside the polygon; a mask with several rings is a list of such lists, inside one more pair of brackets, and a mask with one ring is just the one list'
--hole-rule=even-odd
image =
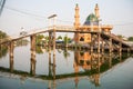
{"label": "left minaret of the mosque, tall and pale orange", "polygon": [[75,16],[74,16],[74,28],[78,29],[78,27],[80,26],[80,14],[79,14],[79,6],[76,3],[75,6]]}

